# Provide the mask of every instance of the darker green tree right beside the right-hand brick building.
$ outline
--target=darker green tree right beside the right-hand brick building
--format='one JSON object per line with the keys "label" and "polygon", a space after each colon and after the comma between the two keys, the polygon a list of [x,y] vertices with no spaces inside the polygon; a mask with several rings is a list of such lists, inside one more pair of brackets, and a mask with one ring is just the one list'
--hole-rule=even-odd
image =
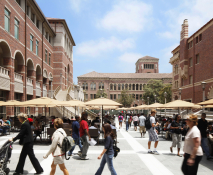
{"label": "darker green tree right beside the right-hand brick building", "polygon": [[159,92],[159,102],[164,104],[165,103],[165,97],[164,93],[167,93],[166,96],[166,103],[172,101],[172,85],[166,84]]}

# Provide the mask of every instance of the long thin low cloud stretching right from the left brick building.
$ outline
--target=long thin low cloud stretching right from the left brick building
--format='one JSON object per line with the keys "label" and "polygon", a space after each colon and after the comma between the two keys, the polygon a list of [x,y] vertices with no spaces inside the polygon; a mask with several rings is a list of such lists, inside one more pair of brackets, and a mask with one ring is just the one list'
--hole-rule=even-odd
{"label": "long thin low cloud stretching right from the left brick building", "polygon": [[87,57],[98,57],[117,50],[124,51],[134,46],[135,42],[131,38],[124,40],[116,37],[110,37],[109,39],[101,38],[99,40],[90,40],[78,44],[76,54]]}

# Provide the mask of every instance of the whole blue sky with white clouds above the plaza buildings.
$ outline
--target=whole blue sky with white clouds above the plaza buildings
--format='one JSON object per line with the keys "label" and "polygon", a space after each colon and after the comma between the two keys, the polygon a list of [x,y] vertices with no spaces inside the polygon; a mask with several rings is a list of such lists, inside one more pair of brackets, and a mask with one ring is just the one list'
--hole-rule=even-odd
{"label": "whole blue sky with white clouds above the plaza buildings", "polygon": [[46,17],[65,19],[76,46],[73,80],[91,71],[135,73],[143,56],[159,58],[159,72],[171,73],[171,51],[181,24],[189,36],[213,17],[213,0],[36,0]]}

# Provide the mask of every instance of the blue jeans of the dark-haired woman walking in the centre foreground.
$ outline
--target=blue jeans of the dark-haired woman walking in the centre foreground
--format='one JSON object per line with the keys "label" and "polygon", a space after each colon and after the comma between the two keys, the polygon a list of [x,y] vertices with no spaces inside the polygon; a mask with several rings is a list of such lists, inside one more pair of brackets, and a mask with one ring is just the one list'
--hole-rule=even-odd
{"label": "blue jeans of the dark-haired woman walking in the centre foreground", "polygon": [[111,175],[117,175],[117,173],[115,172],[115,169],[113,167],[113,164],[112,164],[113,157],[114,157],[113,154],[111,154],[111,155],[104,154],[104,156],[103,156],[103,158],[101,160],[101,165],[98,168],[98,171],[95,173],[95,175],[101,175],[102,174],[104,166],[105,166],[106,163],[107,163],[108,168],[109,168],[109,170],[111,172]]}

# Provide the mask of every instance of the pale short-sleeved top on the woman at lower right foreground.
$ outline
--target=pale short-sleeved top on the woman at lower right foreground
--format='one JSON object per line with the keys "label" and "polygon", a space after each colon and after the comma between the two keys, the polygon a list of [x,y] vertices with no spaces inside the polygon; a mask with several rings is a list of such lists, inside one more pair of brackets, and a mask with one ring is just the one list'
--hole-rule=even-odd
{"label": "pale short-sleeved top on the woman at lower right foreground", "polygon": [[[187,154],[192,154],[193,148],[194,148],[194,141],[193,138],[199,138],[199,141],[201,141],[201,135],[200,130],[197,128],[197,126],[193,126],[186,134],[183,152]],[[203,151],[201,146],[197,149],[197,156],[202,156]]]}

